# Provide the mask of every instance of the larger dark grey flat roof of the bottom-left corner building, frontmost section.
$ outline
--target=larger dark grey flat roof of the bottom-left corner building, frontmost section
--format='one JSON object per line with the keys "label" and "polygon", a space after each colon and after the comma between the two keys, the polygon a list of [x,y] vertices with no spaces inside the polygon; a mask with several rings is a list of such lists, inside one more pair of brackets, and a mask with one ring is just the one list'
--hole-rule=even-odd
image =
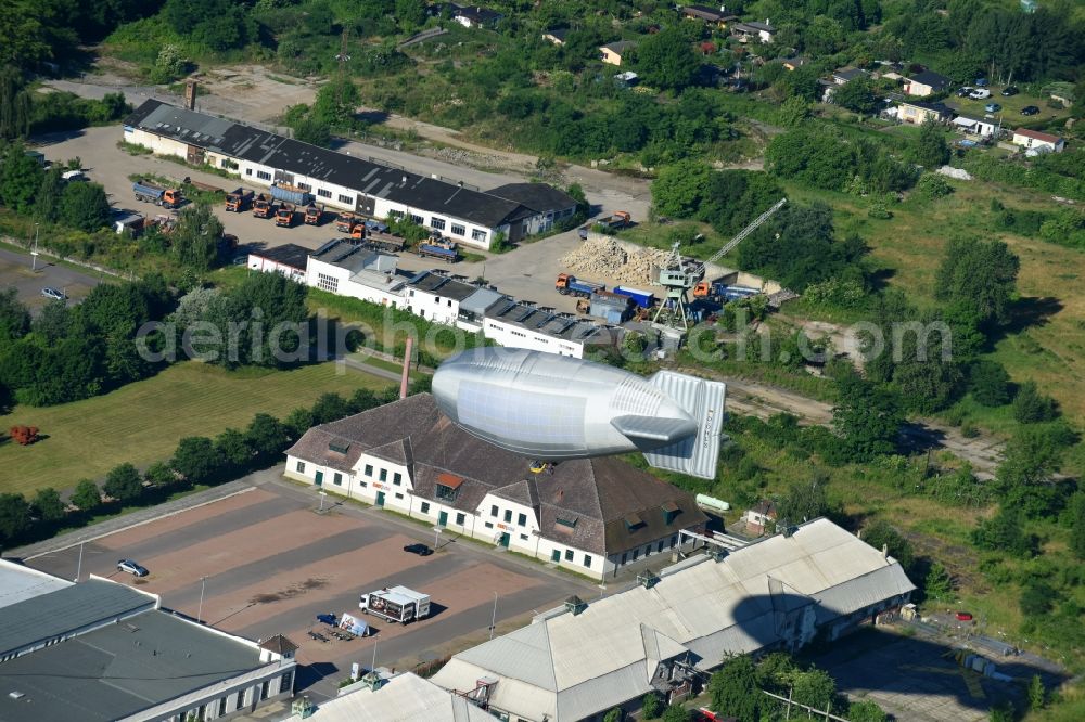
{"label": "larger dark grey flat roof of the bottom-left corner building, frontmost section", "polygon": [[146,611],[0,665],[0,721],[122,719],[263,666],[255,645]]}

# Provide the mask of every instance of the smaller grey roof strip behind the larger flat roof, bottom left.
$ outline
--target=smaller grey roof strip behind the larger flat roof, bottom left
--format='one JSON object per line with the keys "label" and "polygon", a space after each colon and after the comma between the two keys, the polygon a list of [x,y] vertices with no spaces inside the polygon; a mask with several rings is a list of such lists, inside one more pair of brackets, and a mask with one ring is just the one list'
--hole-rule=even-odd
{"label": "smaller grey roof strip behind the larger flat roof, bottom left", "polygon": [[124,584],[90,579],[12,604],[0,615],[0,657],[95,622],[154,608],[157,602]]}

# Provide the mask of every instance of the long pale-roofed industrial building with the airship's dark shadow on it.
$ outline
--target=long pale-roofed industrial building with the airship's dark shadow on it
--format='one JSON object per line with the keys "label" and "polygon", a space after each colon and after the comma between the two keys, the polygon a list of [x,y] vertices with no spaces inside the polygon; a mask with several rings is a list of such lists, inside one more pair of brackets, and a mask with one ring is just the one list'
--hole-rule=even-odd
{"label": "long pale-roofed industrial building with the airship's dark shadow on it", "polygon": [[599,601],[572,597],[454,656],[433,681],[502,719],[597,719],[652,691],[682,695],[727,655],[794,650],[877,623],[915,590],[896,559],[828,519],[638,581]]}

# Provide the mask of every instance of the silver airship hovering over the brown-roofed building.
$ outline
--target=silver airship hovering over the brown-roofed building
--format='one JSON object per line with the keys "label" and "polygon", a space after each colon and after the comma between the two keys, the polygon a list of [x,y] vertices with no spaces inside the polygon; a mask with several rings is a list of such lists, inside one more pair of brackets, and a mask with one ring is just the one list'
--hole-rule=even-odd
{"label": "silver airship hovering over the brown-roofed building", "polygon": [[557,463],[640,451],[656,468],[715,478],[726,385],[646,378],[541,351],[477,348],[433,376],[437,408],[468,434]]}

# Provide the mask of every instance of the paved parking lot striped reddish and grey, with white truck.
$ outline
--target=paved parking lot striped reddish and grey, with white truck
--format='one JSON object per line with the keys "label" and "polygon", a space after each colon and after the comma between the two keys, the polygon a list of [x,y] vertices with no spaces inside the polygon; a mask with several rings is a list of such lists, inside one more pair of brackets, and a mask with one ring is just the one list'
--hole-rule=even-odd
{"label": "paved parking lot striped reddish and grey, with white truck", "polygon": [[[500,627],[501,620],[548,609],[571,594],[599,593],[587,580],[468,541],[446,538],[429,557],[408,554],[405,544],[432,545],[434,534],[387,512],[353,505],[321,515],[318,503],[312,489],[281,481],[253,487],[86,543],[82,577],[137,584],[159,594],[163,606],[227,632],[254,640],[285,634],[299,645],[299,662],[310,666],[298,682],[315,698],[334,696],[350,662],[369,666],[374,645],[379,665],[411,667],[449,654],[463,635],[477,641],[489,627],[495,594]],[[124,557],[145,566],[150,576],[136,580],[117,572]],[[28,564],[73,578],[78,558],[75,546]],[[406,627],[366,618],[376,631],[370,639],[308,636],[322,627],[318,614],[357,613],[360,593],[392,584],[430,594],[431,617]]]}

